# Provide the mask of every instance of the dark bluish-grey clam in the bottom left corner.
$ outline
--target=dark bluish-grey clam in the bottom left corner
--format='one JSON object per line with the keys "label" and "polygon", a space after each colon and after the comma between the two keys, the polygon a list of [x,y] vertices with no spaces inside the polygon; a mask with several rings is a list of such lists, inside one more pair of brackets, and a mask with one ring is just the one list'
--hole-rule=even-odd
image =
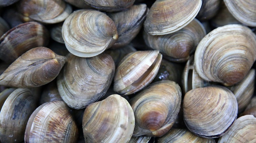
{"label": "dark bluish-grey clam in the bottom left corner", "polygon": [[[4,93],[3,93],[4,92]],[[0,112],[0,140],[2,143],[22,142],[30,115],[36,108],[31,90],[27,88],[9,88],[1,92],[6,94]]]}

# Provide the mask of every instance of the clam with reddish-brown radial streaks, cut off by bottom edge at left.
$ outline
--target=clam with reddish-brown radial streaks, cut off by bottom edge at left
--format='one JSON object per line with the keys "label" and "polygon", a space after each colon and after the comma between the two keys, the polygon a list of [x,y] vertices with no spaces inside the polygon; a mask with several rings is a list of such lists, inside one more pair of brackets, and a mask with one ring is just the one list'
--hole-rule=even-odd
{"label": "clam with reddish-brown radial streaks, cut off by bottom edge at left", "polygon": [[63,101],[44,103],[32,113],[25,131],[25,143],[76,142],[78,129]]}

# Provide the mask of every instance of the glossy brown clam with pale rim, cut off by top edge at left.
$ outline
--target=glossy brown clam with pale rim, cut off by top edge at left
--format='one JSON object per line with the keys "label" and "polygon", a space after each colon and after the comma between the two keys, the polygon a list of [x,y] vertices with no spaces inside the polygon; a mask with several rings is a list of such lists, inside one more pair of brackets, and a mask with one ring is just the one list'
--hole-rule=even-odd
{"label": "glossy brown clam with pale rim, cut off by top edge at left", "polygon": [[24,22],[55,24],[72,13],[72,7],[62,0],[20,0],[16,6]]}

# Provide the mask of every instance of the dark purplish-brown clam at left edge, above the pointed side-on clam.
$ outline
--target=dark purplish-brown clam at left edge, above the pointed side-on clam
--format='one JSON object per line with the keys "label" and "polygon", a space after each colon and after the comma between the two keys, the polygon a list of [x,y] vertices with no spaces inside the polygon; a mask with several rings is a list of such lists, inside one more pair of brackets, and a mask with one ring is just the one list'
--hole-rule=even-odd
{"label": "dark purplish-brown clam at left edge, above the pointed side-on clam", "polygon": [[48,41],[49,32],[42,24],[37,22],[19,24],[0,38],[0,59],[12,63],[28,50],[46,46]]}

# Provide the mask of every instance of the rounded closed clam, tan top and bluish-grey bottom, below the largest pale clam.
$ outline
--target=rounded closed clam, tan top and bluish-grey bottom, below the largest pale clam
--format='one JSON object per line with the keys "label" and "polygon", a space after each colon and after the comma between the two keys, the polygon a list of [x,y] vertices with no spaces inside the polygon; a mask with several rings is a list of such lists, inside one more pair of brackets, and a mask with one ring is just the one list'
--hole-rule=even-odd
{"label": "rounded closed clam, tan top and bluish-grey bottom, below the largest pale clam", "polygon": [[188,91],[183,100],[187,128],[206,138],[222,136],[237,118],[236,97],[221,86],[202,87]]}

